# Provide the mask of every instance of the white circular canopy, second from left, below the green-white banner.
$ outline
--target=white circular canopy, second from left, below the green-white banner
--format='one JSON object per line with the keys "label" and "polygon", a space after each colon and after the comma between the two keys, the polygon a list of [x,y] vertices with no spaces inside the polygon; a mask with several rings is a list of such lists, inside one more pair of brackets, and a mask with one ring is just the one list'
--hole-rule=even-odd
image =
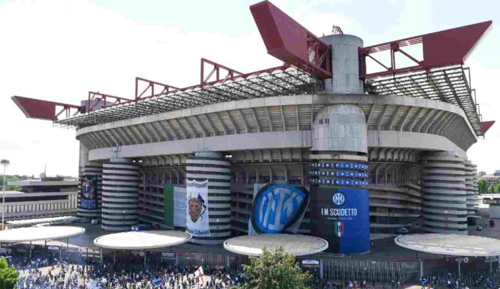
{"label": "white circular canopy, second from left, below the green-white banner", "polygon": [[187,242],[191,234],[181,231],[126,231],[102,235],[94,239],[94,245],[121,250],[162,248]]}

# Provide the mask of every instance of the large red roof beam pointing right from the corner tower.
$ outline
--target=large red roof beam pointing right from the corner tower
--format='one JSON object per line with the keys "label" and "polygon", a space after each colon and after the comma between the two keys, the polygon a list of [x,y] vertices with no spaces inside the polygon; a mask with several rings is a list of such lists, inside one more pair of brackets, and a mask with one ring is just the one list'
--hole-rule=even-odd
{"label": "large red roof beam pointing right from the corner tower", "polygon": [[[461,65],[491,23],[492,21],[490,20],[359,48],[359,78],[366,80],[436,67]],[[423,60],[421,61],[416,60],[413,56],[401,49],[401,47],[416,43],[422,43],[423,46]],[[370,55],[375,52],[389,49],[391,60],[390,67],[384,65]],[[405,55],[416,62],[416,65],[396,68],[395,52],[400,52]],[[385,71],[366,73],[366,57],[380,64],[385,68]]]}

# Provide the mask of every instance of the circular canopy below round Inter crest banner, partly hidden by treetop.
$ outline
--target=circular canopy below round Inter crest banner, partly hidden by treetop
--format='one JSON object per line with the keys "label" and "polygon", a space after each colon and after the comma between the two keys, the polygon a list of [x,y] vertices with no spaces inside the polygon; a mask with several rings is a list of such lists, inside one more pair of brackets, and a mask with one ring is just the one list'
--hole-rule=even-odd
{"label": "circular canopy below round Inter crest banner, partly hidden by treetop", "polygon": [[275,249],[283,246],[294,256],[314,254],[328,248],[328,242],[318,237],[290,234],[244,235],[224,241],[224,248],[234,253],[259,256],[262,248]]}

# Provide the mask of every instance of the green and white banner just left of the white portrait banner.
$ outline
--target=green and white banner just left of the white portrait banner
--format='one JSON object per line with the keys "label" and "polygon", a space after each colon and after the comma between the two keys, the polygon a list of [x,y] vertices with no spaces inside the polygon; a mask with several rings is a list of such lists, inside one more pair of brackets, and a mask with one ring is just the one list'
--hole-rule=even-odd
{"label": "green and white banner just left of the white portrait banner", "polygon": [[165,225],[186,227],[186,189],[174,185],[163,186]]}

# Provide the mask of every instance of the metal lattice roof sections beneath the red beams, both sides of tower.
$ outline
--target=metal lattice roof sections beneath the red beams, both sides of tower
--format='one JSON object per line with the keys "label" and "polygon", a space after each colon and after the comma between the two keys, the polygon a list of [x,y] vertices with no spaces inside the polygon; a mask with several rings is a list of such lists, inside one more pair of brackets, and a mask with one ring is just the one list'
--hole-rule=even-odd
{"label": "metal lattice roof sections beneath the red beams, both sides of tower", "polygon": [[[368,93],[440,100],[463,109],[476,135],[479,116],[462,67],[448,67],[367,82]],[[89,125],[130,119],[219,102],[319,91],[319,81],[298,68],[251,74],[192,89],[160,93],[152,98],[105,107],[54,121],[60,125]]]}

